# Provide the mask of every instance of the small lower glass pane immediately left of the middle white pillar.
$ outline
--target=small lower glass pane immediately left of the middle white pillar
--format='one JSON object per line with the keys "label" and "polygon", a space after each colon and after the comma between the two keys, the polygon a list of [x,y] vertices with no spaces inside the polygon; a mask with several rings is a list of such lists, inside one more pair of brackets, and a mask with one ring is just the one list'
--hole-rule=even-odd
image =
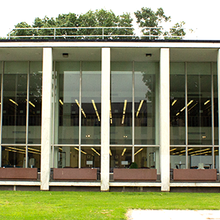
{"label": "small lower glass pane immediately left of the middle white pillar", "polygon": [[101,167],[101,147],[81,147],[81,167]]}

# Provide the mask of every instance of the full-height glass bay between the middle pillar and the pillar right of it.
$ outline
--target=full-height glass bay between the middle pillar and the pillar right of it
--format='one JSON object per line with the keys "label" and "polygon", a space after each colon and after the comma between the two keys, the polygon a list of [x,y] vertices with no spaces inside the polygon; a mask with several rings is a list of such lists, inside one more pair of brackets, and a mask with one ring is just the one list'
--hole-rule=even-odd
{"label": "full-height glass bay between the middle pillar and the pillar right of it", "polygon": [[131,162],[159,170],[158,77],[158,63],[111,63],[111,171]]}

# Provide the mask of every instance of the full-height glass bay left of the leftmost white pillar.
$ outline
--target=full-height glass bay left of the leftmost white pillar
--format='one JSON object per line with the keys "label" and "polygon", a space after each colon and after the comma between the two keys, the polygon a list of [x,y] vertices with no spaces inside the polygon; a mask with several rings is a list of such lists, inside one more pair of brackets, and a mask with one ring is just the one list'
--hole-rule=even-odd
{"label": "full-height glass bay left of the leftmost white pillar", "polygon": [[1,166],[40,170],[42,64],[4,62],[2,79]]}

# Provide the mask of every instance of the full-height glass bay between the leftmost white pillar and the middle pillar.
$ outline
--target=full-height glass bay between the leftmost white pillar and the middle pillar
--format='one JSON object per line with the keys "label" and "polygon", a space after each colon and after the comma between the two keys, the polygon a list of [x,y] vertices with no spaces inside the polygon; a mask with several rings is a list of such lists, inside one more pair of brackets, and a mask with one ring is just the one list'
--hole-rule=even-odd
{"label": "full-height glass bay between the leftmost white pillar and the middle pillar", "polygon": [[99,168],[101,63],[56,62],[54,75],[53,167]]}

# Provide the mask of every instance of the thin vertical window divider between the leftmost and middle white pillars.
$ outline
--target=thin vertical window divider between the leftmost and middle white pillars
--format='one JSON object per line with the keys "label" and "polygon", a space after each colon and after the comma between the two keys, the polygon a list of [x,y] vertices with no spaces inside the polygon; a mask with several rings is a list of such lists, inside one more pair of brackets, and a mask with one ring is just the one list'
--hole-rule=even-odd
{"label": "thin vertical window divider between the leftmost and middle white pillars", "polygon": [[79,80],[79,168],[81,168],[81,139],[82,139],[82,114],[81,114],[81,108],[82,108],[82,61],[80,61],[80,80]]}

